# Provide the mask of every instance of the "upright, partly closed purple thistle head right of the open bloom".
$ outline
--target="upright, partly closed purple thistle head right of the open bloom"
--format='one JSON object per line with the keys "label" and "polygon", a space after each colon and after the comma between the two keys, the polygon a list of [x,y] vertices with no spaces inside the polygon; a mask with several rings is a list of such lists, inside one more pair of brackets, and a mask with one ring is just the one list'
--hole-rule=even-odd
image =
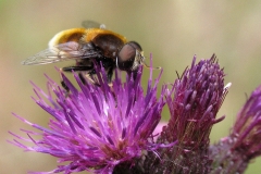
{"label": "upright, partly closed purple thistle head right of the open bloom", "polygon": [[161,150],[164,162],[158,165],[154,162],[156,167],[162,165],[164,173],[210,172],[209,135],[213,124],[224,119],[215,119],[227,94],[224,76],[214,54],[197,64],[194,57],[190,69],[186,69],[175,80],[172,89],[165,89],[171,119],[163,127],[159,141],[177,140],[177,145]]}

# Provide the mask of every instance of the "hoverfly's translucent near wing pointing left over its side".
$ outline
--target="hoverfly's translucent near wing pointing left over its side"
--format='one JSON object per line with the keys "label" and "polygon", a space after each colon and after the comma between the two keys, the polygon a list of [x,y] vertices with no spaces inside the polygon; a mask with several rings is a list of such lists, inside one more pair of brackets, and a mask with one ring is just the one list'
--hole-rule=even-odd
{"label": "hoverfly's translucent near wing pointing left over its side", "polygon": [[88,49],[77,42],[70,41],[50,47],[21,62],[23,65],[55,63],[67,60],[90,59],[98,55],[94,49]]}

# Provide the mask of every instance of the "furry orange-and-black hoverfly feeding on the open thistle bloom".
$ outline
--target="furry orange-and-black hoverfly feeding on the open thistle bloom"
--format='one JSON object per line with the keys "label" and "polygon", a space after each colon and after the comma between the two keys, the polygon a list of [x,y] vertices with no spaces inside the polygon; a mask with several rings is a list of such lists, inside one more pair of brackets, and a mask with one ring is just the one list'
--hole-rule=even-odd
{"label": "furry orange-and-black hoverfly feeding on the open thistle bloom", "polygon": [[[72,28],[58,33],[50,41],[48,49],[26,59],[24,65],[48,64],[67,60],[76,63],[65,66],[63,72],[86,73],[90,79],[97,72],[94,61],[102,64],[109,83],[112,79],[114,69],[120,69],[127,73],[134,73],[140,64],[144,64],[144,53],[140,45],[127,39],[112,30],[104,28],[92,21],[83,23],[83,28]],[[94,82],[94,80],[92,80]],[[65,89],[66,86],[62,82]],[[69,90],[69,89],[67,89]]]}

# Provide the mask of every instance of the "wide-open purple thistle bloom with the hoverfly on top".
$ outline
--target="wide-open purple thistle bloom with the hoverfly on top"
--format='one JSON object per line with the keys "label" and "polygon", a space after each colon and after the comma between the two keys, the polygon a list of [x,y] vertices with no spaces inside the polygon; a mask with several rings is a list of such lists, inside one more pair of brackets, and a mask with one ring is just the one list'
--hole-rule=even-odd
{"label": "wide-open purple thistle bloom with the hoverfly on top", "polygon": [[[116,73],[112,87],[108,85],[104,69],[96,66],[96,71],[100,72],[96,79],[100,86],[88,82],[84,84],[74,73],[79,90],[61,73],[71,91],[70,95],[48,76],[48,94],[33,84],[38,97],[34,100],[53,116],[49,122],[49,128],[14,114],[40,133],[23,130],[28,138],[11,133],[16,137],[12,144],[26,151],[49,153],[57,157],[59,163],[70,162],[47,173],[79,171],[112,173],[117,164],[134,164],[133,161],[140,158],[144,150],[156,151],[162,147],[161,144],[153,141],[152,136],[165,103],[163,90],[159,100],[157,99],[157,86],[162,71],[152,86],[150,69],[146,94],[140,85],[142,67],[137,72],[135,80],[127,76],[125,83]],[[35,136],[39,136],[39,140]],[[21,140],[34,145],[28,147]]]}

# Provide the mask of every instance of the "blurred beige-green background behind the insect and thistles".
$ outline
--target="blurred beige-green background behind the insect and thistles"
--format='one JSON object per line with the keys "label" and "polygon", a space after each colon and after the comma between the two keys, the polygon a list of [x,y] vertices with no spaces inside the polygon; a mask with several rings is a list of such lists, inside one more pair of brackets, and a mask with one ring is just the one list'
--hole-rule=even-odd
{"label": "blurred beige-green background behind the insect and thistles", "polygon": [[[54,64],[23,66],[20,62],[46,49],[58,32],[80,27],[85,20],[104,23],[107,28],[138,41],[147,57],[153,54],[154,66],[164,69],[161,83],[174,82],[175,71],[181,74],[194,54],[201,59],[216,53],[225,67],[226,83],[232,82],[233,86],[217,115],[225,114],[226,119],[213,127],[211,142],[226,136],[246,94],[261,84],[260,9],[259,0],[0,0],[0,173],[50,171],[57,165],[55,159],[47,154],[25,153],[7,142],[13,138],[8,130],[20,134],[21,127],[29,128],[11,112],[40,125],[47,125],[49,120],[30,99],[35,95],[29,80],[44,89],[44,73],[60,80]],[[72,62],[55,66],[65,64]],[[144,79],[147,78],[146,70]],[[167,112],[164,119],[167,120]],[[260,172],[261,160],[257,159],[246,173]]]}

